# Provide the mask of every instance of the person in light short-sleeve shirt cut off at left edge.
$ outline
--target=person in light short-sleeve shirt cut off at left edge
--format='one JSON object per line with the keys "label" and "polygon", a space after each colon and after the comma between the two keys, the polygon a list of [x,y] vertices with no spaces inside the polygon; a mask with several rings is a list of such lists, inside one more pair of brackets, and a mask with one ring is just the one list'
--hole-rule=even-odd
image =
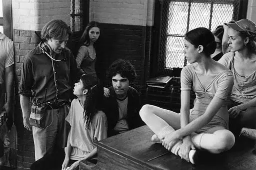
{"label": "person in light short-sleeve shirt cut off at left edge", "polygon": [[[14,50],[13,42],[0,32],[0,165],[9,166],[8,155],[10,144],[8,130],[12,126],[12,116],[10,114],[14,79]],[[6,92],[6,101],[4,93]],[[4,103],[5,102],[5,103]],[[7,122],[5,117],[7,117]],[[5,153],[5,154],[4,154]]]}

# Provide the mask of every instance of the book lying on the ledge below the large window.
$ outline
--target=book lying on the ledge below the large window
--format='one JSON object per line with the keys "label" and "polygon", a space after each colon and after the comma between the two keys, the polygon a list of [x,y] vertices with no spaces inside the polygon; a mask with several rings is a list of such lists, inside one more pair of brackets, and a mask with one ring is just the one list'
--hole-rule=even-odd
{"label": "book lying on the ledge below the large window", "polygon": [[166,88],[172,77],[170,76],[158,76],[150,78],[146,81],[148,87]]}

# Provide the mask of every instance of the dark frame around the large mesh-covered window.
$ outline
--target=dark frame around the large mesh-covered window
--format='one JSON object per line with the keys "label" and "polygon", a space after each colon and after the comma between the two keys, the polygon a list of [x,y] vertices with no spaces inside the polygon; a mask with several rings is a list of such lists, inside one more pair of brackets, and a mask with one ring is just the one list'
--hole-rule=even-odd
{"label": "dark frame around the large mesh-covered window", "polygon": [[[164,54],[166,53],[167,36],[165,38],[162,38],[161,29],[165,29],[168,26],[167,13],[169,10],[168,8],[169,8],[170,1],[188,2],[190,4],[191,2],[210,2],[211,8],[213,4],[212,0],[156,0],[155,1],[155,10],[154,10],[155,15],[154,15],[154,26],[153,26],[153,35],[152,35],[152,37],[154,37],[153,38],[154,42],[153,42],[152,55],[156,57],[150,57],[150,77],[154,77],[158,75],[172,75],[175,69],[175,68],[164,68],[166,56],[165,55],[160,56],[161,55],[160,48],[164,48],[164,51],[162,53]],[[226,0],[226,1],[228,2],[229,0]],[[164,4],[166,5],[166,3],[168,4],[168,7],[163,6]],[[248,0],[239,0],[239,4],[237,5],[237,14],[236,16],[233,16],[233,19],[239,20],[241,18],[246,18],[247,5],[248,5]],[[187,29],[188,29],[188,26],[189,25],[187,25]],[[184,59],[184,65],[185,64],[186,64],[186,60]],[[178,70],[181,70],[181,69],[178,69]],[[179,76],[179,74],[175,76]]]}

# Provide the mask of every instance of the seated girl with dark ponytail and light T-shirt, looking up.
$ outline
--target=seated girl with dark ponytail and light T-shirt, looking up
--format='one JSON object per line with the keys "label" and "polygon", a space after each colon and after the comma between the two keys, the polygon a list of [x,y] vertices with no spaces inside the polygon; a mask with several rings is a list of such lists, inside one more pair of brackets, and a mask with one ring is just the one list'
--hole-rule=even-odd
{"label": "seated girl with dark ponytail and light T-shirt, looking up", "polygon": [[79,161],[94,158],[96,142],[107,137],[106,116],[96,105],[98,91],[91,75],[82,75],[75,83],[73,94],[78,98],[72,101],[66,117],[71,129],[62,170],[78,170]]}

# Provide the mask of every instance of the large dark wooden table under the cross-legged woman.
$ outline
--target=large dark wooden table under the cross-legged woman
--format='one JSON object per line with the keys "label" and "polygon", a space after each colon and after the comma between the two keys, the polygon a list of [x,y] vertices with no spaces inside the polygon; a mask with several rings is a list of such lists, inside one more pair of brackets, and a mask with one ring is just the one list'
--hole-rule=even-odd
{"label": "large dark wooden table under the cross-legged woman", "polygon": [[[256,170],[251,145],[218,155],[208,154],[201,164],[194,166],[168,153],[160,144],[150,142],[152,134],[147,126],[142,126],[102,140],[98,143],[97,164],[83,161],[80,170]],[[148,161],[157,156],[160,157]]]}

